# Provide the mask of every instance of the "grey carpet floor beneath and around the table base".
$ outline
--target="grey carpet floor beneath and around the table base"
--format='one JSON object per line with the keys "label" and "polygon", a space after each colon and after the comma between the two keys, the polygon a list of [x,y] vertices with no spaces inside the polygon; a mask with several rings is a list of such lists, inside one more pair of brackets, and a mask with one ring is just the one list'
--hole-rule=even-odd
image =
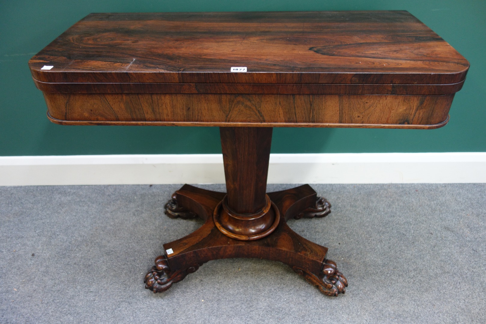
{"label": "grey carpet floor beneath and around the table base", "polygon": [[0,188],[0,323],[486,323],[486,184],[313,185],[332,213],[289,225],[329,247],[337,298],[257,259],[145,290],[162,244],[201,225],[163,215],[179,187]]}

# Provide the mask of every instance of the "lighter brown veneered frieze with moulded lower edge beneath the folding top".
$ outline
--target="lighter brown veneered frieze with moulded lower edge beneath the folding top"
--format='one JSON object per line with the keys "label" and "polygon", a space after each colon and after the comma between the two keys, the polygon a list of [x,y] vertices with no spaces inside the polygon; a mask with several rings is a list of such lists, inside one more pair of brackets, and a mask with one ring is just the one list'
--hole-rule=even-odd
{"label": "lighter brown veneered frieze with moulded lower edge beneath the folding top", "polygon": [[45,93],[59,124],[437,128],[454,95]]}

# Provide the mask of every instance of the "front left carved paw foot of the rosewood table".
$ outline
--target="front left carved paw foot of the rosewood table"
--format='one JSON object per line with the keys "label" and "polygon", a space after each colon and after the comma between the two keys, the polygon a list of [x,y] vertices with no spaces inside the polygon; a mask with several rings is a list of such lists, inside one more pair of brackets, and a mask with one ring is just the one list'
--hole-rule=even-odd
{"label": "front left carved paw foot of the rosewood table", "polygon": [[189,273],[195,272],[199,269],[199,264],[194,264],[187,269],[177,270],[174,273],[169,268],[166,256],[157,256],[155,259],[155,266],[149,270],[145,275],[143,282],[145,289],[150,289],[154,293],[162,292],[171,288],[172,284],[181,281]]}

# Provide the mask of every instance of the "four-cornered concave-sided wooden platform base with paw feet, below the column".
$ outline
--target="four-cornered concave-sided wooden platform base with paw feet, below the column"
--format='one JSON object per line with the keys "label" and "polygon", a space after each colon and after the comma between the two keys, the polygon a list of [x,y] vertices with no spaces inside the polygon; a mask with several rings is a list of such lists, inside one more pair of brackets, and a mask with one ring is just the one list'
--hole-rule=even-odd
{"label": "four-cornered concave-sided wooden platform base with paw feet, below the column", "polygon": [[[228,238],[211,217],[225,193],[184,185],[173,195],[175,205],[197,215],[205,223],[188,236],[164,244],[164,252],[145,275],[146,289],[162,292],[196,272],[210,260],[234,257],[263,258],[283,262],[328,296],[346,292],[347,279],[336,263],[326,259],[328,248],[304,239],[286,223],[313,209],[316,193],[309,185],[269,192],[282,217],[270,235],[257,240]],[[173,201],[169,205],[173,205]],[[171,216],[172,217],[172,216]]]}

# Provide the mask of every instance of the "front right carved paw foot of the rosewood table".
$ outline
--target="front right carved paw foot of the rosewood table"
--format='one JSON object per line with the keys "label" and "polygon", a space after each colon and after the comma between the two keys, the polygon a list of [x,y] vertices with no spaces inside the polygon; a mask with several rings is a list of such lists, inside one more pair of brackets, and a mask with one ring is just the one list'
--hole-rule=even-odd
{"label": "front right carved paw foot of the rosewood table", "polygon": [[304,278],[311,284],[317,286],[317,288],[325,295],[337,296],[340,293],[346,292],[347,279],[339,272],[339,270],[337,270],[334,261],[325,259],[318,276],[297,266],[292,269],[296,273],[304,276]]}

